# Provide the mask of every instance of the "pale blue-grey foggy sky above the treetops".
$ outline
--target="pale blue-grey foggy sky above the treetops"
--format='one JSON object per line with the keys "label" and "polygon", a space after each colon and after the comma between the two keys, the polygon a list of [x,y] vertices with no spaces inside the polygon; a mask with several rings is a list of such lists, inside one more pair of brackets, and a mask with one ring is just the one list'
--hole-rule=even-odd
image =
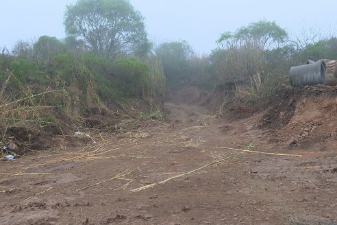
{"label": "pale blue-grey foggy sky above the treetops", "polygon": [[[76,0],[1,0],[0,47],[12,49],[17,40],[36,41],[42,35],[64,38],[65,5]],[[303,29],[337,34],[334,1],[271,0],[130,0],[145,17],[149,39],[159,45],[187,40],[197,54],[209,54],[225,31],[266,19],[290,36]]]}

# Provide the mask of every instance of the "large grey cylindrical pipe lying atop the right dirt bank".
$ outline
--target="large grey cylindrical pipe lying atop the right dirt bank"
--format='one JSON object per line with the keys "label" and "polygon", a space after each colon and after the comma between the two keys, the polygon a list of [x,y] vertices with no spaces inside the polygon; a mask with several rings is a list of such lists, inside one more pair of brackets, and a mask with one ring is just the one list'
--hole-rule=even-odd
{"label": "large grey cylindrical pipe lying atop the right dirt bank", "polygon": [[292,86],[306,86],[324,84],[327,66],[323,60],[290,68],[290,84]]}

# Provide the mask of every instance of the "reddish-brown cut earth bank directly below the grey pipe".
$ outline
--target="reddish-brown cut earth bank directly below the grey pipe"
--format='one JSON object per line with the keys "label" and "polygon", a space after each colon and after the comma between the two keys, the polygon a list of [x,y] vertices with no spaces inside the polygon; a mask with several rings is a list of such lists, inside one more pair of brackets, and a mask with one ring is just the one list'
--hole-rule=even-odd
{"label": "reddish-brown cut earth bank directly below the grey pipe", "polygon": [[337,88],[308,86],[284,88],[271,99],[260,120],[276,141],[290,145],[321,144],[337,141]]}

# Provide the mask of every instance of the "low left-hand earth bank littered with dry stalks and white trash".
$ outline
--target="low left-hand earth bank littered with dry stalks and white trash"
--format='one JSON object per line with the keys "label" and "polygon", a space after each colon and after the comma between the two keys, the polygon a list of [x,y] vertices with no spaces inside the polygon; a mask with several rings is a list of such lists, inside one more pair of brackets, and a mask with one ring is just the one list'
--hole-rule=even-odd
{"label": "low left-hand earth bank littered with dry stalks and white trash", "polygon": [[[92,134],[128,129],[127,121],[140,117],[142,110],[150,108],[147,101],[130,100],[125,104],[111,101],[107,106],[73,108],[64,112],[51,110],[52,121],[17,119],[16,123],[10,121],[7,126],[0,124],[0,147],[5,147],[3,156],[12,154],[19,157],[60,145],[83,146],[92,142]],[[76,132],[80,135],[75,135]]]}

